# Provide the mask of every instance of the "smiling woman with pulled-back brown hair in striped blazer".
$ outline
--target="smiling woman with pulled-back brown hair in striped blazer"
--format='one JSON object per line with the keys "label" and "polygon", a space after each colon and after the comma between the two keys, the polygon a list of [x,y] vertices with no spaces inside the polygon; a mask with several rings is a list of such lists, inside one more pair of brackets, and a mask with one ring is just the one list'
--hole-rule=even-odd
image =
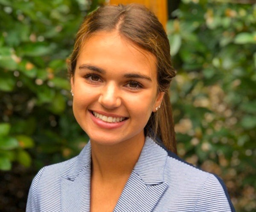
{"label": "smiling woman with pulled-back brown hair in striped blazer", "polygon": [[218,177],[175,155],[169,52],[163,26],[143,6],[105,6],[84,20],[70,82],[90,141],[38,172],[27,212],[234,211]]}

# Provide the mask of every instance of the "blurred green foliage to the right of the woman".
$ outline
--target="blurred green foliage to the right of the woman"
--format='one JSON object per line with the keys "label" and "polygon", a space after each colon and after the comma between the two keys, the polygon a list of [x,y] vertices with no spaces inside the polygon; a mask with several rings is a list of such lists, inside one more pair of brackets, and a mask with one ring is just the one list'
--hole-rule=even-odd
{"label": "blurred green foliage to the right of the woman", "polygon": [[256,5],[186,0],[173,15],[179,154],[224,178],[237,210],[254,211]]}

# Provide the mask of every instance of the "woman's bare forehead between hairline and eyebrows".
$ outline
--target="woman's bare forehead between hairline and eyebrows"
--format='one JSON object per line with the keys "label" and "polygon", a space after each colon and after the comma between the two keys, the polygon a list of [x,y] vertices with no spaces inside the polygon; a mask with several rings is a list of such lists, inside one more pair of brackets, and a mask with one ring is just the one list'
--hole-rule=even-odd
{"label": "woman's bare forehead between hairline and eyebrows", "polygon": [[[157,59],[151,52],[141,48],[117,31],[100,31],[81,45],[77,65],[84,62],[96,65],[116,66],[121,70],[143,71],[157,75]],[[103,68],[103,67],[102,67]]]}

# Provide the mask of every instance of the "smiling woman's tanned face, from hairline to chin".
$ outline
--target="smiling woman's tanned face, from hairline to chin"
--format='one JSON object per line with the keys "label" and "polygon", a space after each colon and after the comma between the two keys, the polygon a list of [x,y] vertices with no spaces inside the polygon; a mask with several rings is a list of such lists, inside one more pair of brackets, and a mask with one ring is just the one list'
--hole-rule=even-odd
{"label": "smiling woman's tanned face, from hairline to chin", "polygon": [[155,56],[116,31],[84,42],[71,86],[74,116],[99,144],[144,142],[144,127],[163,99]]}

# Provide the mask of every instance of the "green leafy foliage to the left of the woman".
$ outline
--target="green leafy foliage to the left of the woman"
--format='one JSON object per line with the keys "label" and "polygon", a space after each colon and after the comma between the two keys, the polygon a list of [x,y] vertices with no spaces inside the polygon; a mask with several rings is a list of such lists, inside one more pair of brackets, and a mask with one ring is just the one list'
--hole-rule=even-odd
{"label": "green leafy foliage to the left of the woman", "polygon": [[99,3],[0,0],[0,170],[33,161],[37,171],[86,141],[70,107],[66,60],[81,20]]}

